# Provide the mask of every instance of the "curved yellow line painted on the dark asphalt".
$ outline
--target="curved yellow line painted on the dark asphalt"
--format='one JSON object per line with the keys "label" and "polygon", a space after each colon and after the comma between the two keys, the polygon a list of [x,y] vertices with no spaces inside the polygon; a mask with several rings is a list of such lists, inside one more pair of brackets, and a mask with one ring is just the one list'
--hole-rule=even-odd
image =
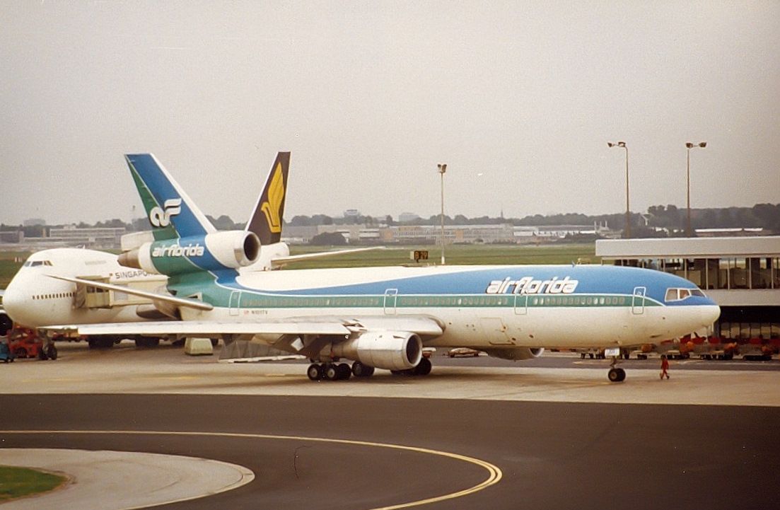
{"label": "curved yellow line painted on the dark asphalt", "polygon": [[[187,432],[187,431],[166,431],[166,430],[0,430],[0,434],[126,434],[126,435],[168,435],[168,436],[206,436],[206,437],[243,437],[254,439],[285,439],[294,441],[312,441],[320,443],[335,443],[335,444],[349,444],[353,446],[371,446],[374,448],[392,448],[395,450],[405,450],[407,452],[424,453],[427,455],[438,455],[440,457],[446,457],[449,459],[455,459],[462,462],[469,462],[475,466],[488,471],[488,478],[477,483],[473,487],[468,487],[462,491],[452,492],[449,494],[441,494],[441,496],[435,496],[434,498],[420,499],[418,501],[409,501],[401,503],[399,505],[383,506],[378,508],[370,508],[368,510],[399,510],[399,508],[410,508],[413,506],[430,505],[431,503],[438,503],[438,501],[446,501],[448,499],[463,498],[469,494],[474,494],[479,491],[487,489],[491,485],[495,485],[501,481],[503,473],[502,470],[491,464],[488,461],[477,459],[475,457],[469,457],[467,455],[460,455],[452,452],[442,452],[441,450],[432,450],[430,448],[420,448],[417,446],[406,446],[404,444],[391,444],[391,443],[378,443],[373,441],[354,441],[351,439],[331,439],[328,437],[305,437],[305,436],[279,436],[274,434],[241,434],[234,432]],[[216,493],[215,493],[216,494]],[[191,499],[191,498],[188,498]],[[186,501],[186,500],[182,500]],[[175,503],[176,501],[170,501]],[[167,504],[167,503],[166,503]],[[133,507],[133,508],[145,508],[145,507]],[[127,508],[126,510],[133,510]]]}

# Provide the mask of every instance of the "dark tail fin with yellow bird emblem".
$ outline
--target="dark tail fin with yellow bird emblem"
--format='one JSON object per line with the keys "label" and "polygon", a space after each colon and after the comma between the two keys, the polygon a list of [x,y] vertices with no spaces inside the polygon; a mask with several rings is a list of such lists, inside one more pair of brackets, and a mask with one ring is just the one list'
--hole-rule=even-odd
{"label": "dark tail fin with yellow bird emblem", "polygon": [[289,152],[276,154],[276,161],[271,166],[271,173],[265,181],[263,192],[257,198],[254,211],[244,228],[257,234],[262,246],[278,243],[282,239],[282,218],[285,212],[289,164]]}

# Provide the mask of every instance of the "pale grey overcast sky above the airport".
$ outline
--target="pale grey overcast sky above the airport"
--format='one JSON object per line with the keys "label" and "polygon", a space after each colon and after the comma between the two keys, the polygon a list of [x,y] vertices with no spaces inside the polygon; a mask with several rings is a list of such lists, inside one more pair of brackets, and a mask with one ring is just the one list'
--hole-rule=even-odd
{"label": "pale grey overcast sky above the airport", "polygon": [[[0,6],[0,221],[129,220],[122,154],[245,220],[780,202],[780,2]],[[140,213],[136,214],[140,216]]]}

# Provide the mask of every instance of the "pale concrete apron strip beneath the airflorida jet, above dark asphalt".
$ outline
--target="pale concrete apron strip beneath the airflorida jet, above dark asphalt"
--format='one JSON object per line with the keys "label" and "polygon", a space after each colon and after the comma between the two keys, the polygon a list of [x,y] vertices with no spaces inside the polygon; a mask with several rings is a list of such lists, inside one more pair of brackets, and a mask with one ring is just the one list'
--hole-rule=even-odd
{"label": "pale concrete apron strip beneath the airflorida jet, above dark asphalt", "polygon": [[[56,361],[20,359],[2,367],[6,393],[189,393],[199,395],[301,395],[452,398],[545,402],[780,406],[780,360],[761,362],[673,361],[668,381],[657,360],[622,363],[626,381],[607,379],[608,361],[551,353],[512,363],[431,358],[427,377],[398,377],[377,370],[368,379],[309,381],[307,363],[220,363],[214,356],[185,356],[180,348],[136,349],[130,342],[91,350],[62,344]],[[495,363],[498,362],[498,363]],[[557,367],[548,368],[552,363]],[[537,367],[536,365],[541,365]],[[545,367],[547,365],[548,367]],[[699,370],[695,367],[716,367]],[[695,369],[695,370],[694,370]]]}

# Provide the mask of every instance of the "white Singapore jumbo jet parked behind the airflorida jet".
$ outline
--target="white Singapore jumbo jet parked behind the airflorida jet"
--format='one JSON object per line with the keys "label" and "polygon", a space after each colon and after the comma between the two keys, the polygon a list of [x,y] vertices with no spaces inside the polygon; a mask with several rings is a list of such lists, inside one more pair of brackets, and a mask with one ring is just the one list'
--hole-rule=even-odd
{"label": "white Singapore jumbo jet parked behind the airflorida jet", "polygon": [[[329,257],[341,253],[365,250],[339,250],[332,252],[289,254],[289,247],[282,242],[282,218],[284,215],[286,189],[289,175],[289,152],[277,154],[271,172],[257,198],[250,220],[245,230],[254,232],[261,239],[262,246],[257,259],[241,271],[268,271],[296,260],[314,257]],[[170,235],[173,232],[168,218],[178,214],[178,201],[168,200],[162,207],[155,209],[148,218],[154,231],[137,232],[125,236],[122,245],[133,250],[155,236]],[[206,221],[207,222],[207,221]],[[209,232],[216,229],[209,225]],[[92,292],[93,287],[76,285],[50,275],[64,278],[81,278],[110,283],[122,287],[121,292],[113,293],[115,298],[109,301],[108,292]],[[43,328],[51,324],[92,324],[106,322],[135,322],[179,318],[179,309],[175,302],[130,299],[127,287],[147,291],[166,293],[168,278],[155,271],[147,273],[138,268],[122,266],[113,253],[98,250],[80,250],[75,248],[55,248],[41,250],[31,255],[14,276],[5,296],[5,309],[17,324],[29,328]],[[94,299],[97,298],[97,299]],[[141,335],[90,335],[91,346],[110,347],[121,338],[134,339],[138,345],[156,345],[158,338]],[[53,345],[51,345],[53,347]]]}

